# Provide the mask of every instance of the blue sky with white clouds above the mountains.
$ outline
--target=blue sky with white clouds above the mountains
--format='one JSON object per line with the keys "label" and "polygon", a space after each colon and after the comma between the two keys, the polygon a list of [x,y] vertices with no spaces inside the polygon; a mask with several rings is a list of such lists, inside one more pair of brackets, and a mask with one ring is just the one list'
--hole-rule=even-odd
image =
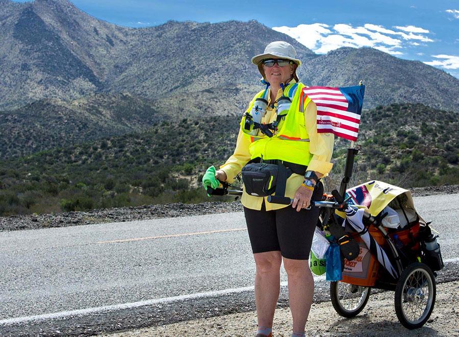
{"label": "blue sky with white clouds above the mountains", "polygon": [[[23,2],[23,0],[21,1]],[[458,0],[186,1],[73,0],[88,14],[127,27],[168,20],[256,19],[289,34],[315,53],[370,46],[419,60],[459,78]]]}

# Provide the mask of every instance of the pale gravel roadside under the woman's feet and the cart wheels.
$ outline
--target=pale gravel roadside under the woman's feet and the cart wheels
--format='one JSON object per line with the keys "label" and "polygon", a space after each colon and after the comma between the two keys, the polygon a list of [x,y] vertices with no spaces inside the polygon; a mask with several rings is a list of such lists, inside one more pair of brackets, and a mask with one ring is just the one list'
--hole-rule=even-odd
{"label": "pale gravel roadside under the woman's feet and the cart wheels", "polygon": [[[419,329],[405,329],[397,319],[394,292],[372,294],[364,311],[352,319],[339,316],[331,302],[313,304],[306,326],[307,336],[459,336],[459,281],[437,284],[432,315]],[[289,308],[276,309],[273,333],[291,335]],[[238,313],[107,334],[106,336],[253,336],[257,329],[255,312]]]}

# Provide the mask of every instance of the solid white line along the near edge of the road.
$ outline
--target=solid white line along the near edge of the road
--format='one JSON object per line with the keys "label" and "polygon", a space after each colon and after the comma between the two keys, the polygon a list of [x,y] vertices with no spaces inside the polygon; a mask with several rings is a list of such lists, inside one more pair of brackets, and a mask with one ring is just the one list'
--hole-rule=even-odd
{"label": "solid white line along the near edge of the road", "polygon": [[[448,258],[447,260],[444,260],[443,262],[449,263],[449,262],[458,262],[458,261],[459,261],[459,257],[455,257],[455,258]],[[314,281],[322,281],[322,280],[325,280],[325,275],[314,276]],[[287,282],[281,282],[281,286],[286,287]],[[157,299],[151,299],[151,300],[146,300],[146,301],[120,303],[120,304],[98,306],[98,307],[78,309],[78,310],[69,310],[69,311],[63,311],[63,312],[58,312],[58,313],[8,318],[8,319],[0,320],[0,325],[11,325],[11,324],[19,324],[19,323],[26,323],[26,322],[32,322],[32,321],[45,321],[45,320],[50,320],[50,319],[63,319],[63,318],[68,318],[68,317],[73,317],[73,316],[83,316],[83,315],[100,313],[100,312],[111,312],[115,310],[130,309],[130,308],[135,308],[135,307],[145,306],[145,305],[155,305],[155,304],[160,304],[160,303],[185,301],[185,300],[202,298],[202,297],[237,294],[237,293],[242,293],[246,291],[253,291],[253,288],[254,288],[253,286],[250,286],[250,287],[223,289],[223,290],[209,291],[209,292],[196,293],[196,294],[157,298]]]}

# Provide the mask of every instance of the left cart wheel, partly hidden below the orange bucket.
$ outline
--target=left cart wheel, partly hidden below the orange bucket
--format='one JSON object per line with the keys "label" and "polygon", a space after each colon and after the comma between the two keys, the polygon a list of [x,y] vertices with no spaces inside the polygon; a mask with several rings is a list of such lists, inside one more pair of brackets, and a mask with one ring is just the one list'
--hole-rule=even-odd
{"label": "left cart wheel, partly hidden below the orange bucket", "polygon": [[370,290],[369,287],[354,286],[341,281],[330,282],[331,304],[339,315],[354,317],[359,315],[367,304]]}

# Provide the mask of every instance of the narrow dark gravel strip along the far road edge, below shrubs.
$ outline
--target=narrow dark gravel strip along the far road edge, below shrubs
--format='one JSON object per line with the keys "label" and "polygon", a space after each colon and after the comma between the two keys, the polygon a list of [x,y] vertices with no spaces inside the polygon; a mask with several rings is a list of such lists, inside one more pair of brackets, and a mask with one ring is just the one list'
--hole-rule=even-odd
{"label": "narrow dark gravel strip along the far road edge, below shrubs", "polygon": [[[444,195],[459,193],[459,185],[444,185],[411,189],[413,196]],[[173,218],[192,215],[242,212],[240,201],[203,202],[197,204],[171,203],[124,207],[89,212],[66,212],[57,214],[33,214],[0,217],[0,231],[67,227],[104,222],[124,222]]]}

